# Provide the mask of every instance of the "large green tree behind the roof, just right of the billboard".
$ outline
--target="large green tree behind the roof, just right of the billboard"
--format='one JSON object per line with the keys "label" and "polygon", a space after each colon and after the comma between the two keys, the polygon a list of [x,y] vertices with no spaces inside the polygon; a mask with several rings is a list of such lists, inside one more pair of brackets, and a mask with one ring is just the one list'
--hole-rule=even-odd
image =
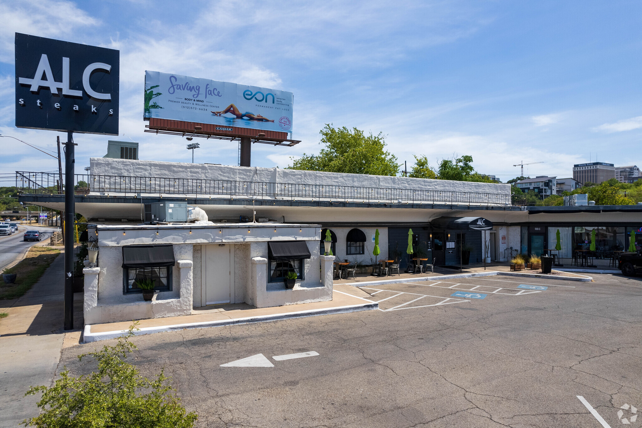
{"label": "large green tree behind the roof, just right of the billboard", "polygon": [[326,123],[320,130],[322,148],[318,155],[303,154],[288,169],[343,172],[348,174],[397,175],[397,157],[384,149],[381,132],[366,136],[362,130],[334,128]]}

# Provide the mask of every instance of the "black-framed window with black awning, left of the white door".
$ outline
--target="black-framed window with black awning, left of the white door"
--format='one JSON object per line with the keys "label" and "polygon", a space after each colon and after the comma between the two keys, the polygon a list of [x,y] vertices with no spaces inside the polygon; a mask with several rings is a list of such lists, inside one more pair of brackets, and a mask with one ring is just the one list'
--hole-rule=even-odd
{"label": "black-framed window with black awning, left of the white door", "polygon": [[123,247],[123,294],[143,292],[141,281],[153,281],[157,292],[171,291],[173,245],[126,245]]}

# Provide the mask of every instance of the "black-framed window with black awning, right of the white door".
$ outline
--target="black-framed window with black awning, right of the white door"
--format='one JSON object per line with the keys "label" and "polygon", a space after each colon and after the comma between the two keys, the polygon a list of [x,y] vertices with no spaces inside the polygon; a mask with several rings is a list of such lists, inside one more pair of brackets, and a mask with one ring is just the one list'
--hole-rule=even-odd
{"label": "black-framed window with black awning, right of the white door", "polygon": [[268,242],[270,282],[283,281],[290,272],[297,274],[297,280],[304,280],[304,260],[310,257],[306,241]]}

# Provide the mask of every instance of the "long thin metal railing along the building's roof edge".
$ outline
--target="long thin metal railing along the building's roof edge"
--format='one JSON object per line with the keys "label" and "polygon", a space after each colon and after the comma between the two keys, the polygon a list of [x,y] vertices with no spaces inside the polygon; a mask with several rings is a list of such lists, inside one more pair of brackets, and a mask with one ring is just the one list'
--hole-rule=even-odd
{"label": "long thin metal railing along the building's roof edge", "polygon": [[[15,185],[23,193],[58,194],[59,176],[49,172],[15,173]],[[64,181],[64,179],[63,179]],[[334,186],[330,184],[270,183],[262,181],[232,181],[207,179],[182,179],[162,177],[128,177],[123,175],[76,174],[74,189],[77,194],[143,193],[144,195],[216,195],[217,197],[248,197],[275,199],[310,199],[329,201],[392,201],[439,202],[446,204],[510,205],[511,197],[500,193],[449,192],[376,188],[361,186]]]}

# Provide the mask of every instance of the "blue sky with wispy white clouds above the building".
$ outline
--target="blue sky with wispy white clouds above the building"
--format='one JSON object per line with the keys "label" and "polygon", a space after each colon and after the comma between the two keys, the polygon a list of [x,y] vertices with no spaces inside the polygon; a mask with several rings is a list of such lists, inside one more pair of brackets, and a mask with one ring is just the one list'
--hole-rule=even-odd
{"label": "blue sky with wispy white clouds above the building", "polygon": [[[574,163],[642,166],[639,1],[0,0],[0,134],[55,150],[58,133],[14,126],[15,31],[121,51],[119,138],[78,135],[76,170],[108,139],[141,159],[191,161],[187,141],[145,134],[144,70],[295,94],[299,145],[254,145],[252,166],[316,153],[325,123],[383,132],[400,162],[453,154],[506,181],[520,161],[570,177]],[[123,135],[124,134],[124,135]],[[238,143],[202,140],[195,161],[236,165]],[[0,139],[1,173],[56,160]]]}

